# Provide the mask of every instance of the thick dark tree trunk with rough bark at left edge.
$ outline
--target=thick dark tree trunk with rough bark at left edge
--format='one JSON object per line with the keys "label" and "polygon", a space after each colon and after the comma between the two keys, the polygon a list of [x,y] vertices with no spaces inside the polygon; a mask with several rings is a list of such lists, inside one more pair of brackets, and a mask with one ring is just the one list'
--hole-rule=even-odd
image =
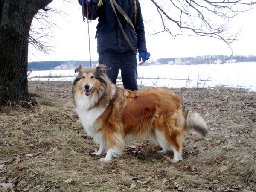
{"label": "thick dark tree trunk with rough bark at left edge", "polygon": [[26,99],[29,29],[34,15],[52,0],[1,0],[0,105]]}

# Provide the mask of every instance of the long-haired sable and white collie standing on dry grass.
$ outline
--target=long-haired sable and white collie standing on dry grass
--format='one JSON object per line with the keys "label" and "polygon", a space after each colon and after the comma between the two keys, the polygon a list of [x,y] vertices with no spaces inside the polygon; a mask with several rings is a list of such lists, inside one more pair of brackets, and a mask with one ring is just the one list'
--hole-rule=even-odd
{"label": "long-haired sable and white collie standing on dry grass", "polygon": [[76,68],[72,93],[84,130],[99,144],[93,153],[108,162],[120,157],[125,142],[150,137],[162,147],[160,154],[173,151],[173,162],[182,160],[185,133],[207,134],[204,119],[186,110],[179,96],[166,89],[131,91],[111,84],[104,65]]}

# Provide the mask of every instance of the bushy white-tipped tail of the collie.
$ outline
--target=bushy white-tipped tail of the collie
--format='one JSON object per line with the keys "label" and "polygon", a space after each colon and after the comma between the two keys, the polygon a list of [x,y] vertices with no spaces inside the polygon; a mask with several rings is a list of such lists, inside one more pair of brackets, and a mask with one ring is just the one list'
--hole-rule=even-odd
{"label": "bushy white-tipped tail of the collie", "polygon": [[204,119],[197,113],[187,110],[182,106],[183,116],[185,117],[186,130],[190,134],[205,137],[208,133],[208,126]]}

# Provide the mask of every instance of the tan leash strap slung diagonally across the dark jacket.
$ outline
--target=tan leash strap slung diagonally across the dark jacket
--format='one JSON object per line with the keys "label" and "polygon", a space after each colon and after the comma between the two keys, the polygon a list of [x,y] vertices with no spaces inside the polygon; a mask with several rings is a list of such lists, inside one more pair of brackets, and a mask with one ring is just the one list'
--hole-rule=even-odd
{"label": "tan leash strap slung diagonally across the dark jacket", "polygon": [[[122,10],[122,8],[116,3],[115,0],[110,0],[110,3],[111,3],[111,6],[112,6],[112,9],[113,9],[113,11],[114,11],[114,13],[115,13],[115,15],[116,15],[117,22],[118,22],[118,24],[119,24],[119,26],[120,26],[120,28],[121,28],[121,30],[122,30],[123,35],[125,36],[125,39],[126,39],[127,43],[129,44],[129,46],[131,47],[131,50],[135,53],[135,55],[137,55],[137,51],[136,51],[136,50],[134,49],[134,47],[132,46],[130,39],[128,38],[127,34],[125,33],[125,30],[123,29],[122,24],[121,24],[119,18],[117,17],[116,10],[124,16],[126,22],[131,26],[131,28],[132,28],[132,29],[134,30],[134,32],[135,32],[134,25],[132,24],[130,18],[126,15],[126,13],[125,13],[125,12]],[[116,7],[116,9],[115,9],[115,7]]]}

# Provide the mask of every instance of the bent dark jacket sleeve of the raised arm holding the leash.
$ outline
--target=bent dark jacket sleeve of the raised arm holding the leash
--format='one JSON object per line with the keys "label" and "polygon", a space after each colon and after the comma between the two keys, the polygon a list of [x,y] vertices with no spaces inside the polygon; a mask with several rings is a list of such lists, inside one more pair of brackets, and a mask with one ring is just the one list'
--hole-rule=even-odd
{"label": "bent dark jacket sleeve of the raised arm holding the leash", "polygon": [[[99,17],[99,7],[102,6],[102,0],[90,0],[89,2],[89,15],[88,19],[89,20],[95,20],[96,18]],[[83,7],[83,14],[84,17],[87,18],[87,10],[86,10],[86,5]]]}

